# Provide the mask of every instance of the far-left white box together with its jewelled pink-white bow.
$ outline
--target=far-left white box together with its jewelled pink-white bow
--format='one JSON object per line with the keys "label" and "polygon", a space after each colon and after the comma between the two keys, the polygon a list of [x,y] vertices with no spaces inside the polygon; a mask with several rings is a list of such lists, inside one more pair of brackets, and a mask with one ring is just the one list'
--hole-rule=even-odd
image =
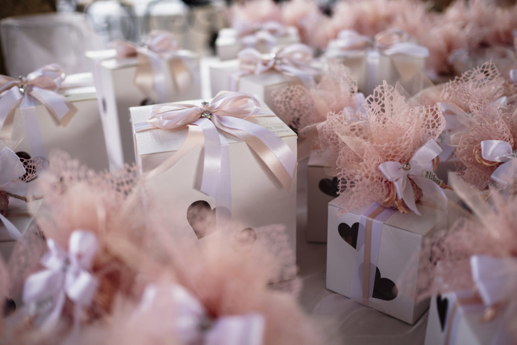
{"label": "far-left white box together with its jewelled pink-white bow", "polygon": [[32,157],[46,158],[59,149],[92,169],[108,168],[95,87],[88,76],[66,77],[58,65],[18,79],[0,76],[0,137],[21,140],[17,151]]}

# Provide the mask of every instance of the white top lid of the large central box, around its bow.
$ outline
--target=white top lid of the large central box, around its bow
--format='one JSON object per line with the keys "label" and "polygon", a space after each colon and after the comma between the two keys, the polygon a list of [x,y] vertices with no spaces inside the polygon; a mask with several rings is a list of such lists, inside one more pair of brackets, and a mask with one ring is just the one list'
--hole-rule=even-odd
{"label": "white top lid of the large central box, around its bow", "polygon": [[[203,100],[189,100],[181,103],[201,104]],[[129,108],[131,113],[131,123],[146,122],[149,118],[151,108],[154,106],[132,107]],[[262,103],[263,109],[269,109]],[[260,125],[271,132],[277,134],[280,138],[296,137],[296,133],[282,122],[276,115],[254,116],[248,117],[247,121]],[[237,138],[227,134],[219,134],[226,138],[229,143],[240,142]],[[135,145],[140,155],[148,155],[160,152],[177,151],[187,137],[187,129],[179,128],[174,130],[150,129],[135,133]]]}

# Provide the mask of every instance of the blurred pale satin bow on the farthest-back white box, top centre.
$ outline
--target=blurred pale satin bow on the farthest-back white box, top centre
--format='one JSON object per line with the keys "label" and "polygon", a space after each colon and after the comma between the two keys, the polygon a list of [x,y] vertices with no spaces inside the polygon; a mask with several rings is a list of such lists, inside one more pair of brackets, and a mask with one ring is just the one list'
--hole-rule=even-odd
{"label": "blurred pale satin bow on the farthest-back white box, top centre", "polygon": [[234,28],[242,44],[250,48],[255,47],[260,41],[266,42],[269,47],[273,47],[277,43],[277,37],[284,36],[287,32],[285,26],[275,21],[255,24],[240,22]]}

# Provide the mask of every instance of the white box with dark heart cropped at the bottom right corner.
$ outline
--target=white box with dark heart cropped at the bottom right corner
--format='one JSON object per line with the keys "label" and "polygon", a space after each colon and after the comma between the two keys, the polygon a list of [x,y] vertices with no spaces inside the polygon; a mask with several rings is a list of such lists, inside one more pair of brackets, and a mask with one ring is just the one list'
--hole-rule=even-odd
{"label": "white box with dark heart cropped at the bottom right corner", "polygon": [[497,308],[494,319],[483,322],[485,307],[473,291],[434,295],[429,308],[425,345],[491,344],[501,331],[505,309]]}

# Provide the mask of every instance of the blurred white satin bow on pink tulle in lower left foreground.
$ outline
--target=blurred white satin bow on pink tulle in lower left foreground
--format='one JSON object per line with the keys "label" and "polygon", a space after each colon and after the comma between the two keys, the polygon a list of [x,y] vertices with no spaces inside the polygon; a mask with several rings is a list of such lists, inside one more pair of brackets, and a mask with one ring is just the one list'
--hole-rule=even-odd
{"label": "blurred white satin bow on pink tulle in lower left foreground", "polygon": [[97,291],[98,281],[89,271],[97,252],[97,238],[87,230],[70,235],[68,252],[53,239],[47,239],[49,251],[41,258],[43,271],[30,275],[23,286],[23,303],[43,328],[56,325],[66,298],[74,302],[74,328],[79,327],[81,311],[88,307]]}

